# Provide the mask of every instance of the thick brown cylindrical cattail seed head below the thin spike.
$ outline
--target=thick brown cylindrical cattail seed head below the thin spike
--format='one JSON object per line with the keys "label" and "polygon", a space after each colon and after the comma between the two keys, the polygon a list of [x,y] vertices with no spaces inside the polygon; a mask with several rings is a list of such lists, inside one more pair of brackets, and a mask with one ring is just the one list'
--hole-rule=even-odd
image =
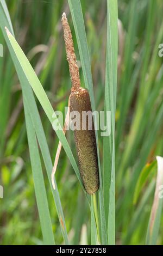
{"label": "thick brown cylindrical cattail seed head below the thin spike", "polygon": [[74,130],[80,175],[86,192],[94,194],[99,188],[95,128],[92,125],[92,130],[89,130],[86,122],[86,130],[82,130],[82,112],[92,112],[89,92],[80,87],[77,92],[71,93],[69,100],[70,112],[78,111],[80,113],[80,130]]}

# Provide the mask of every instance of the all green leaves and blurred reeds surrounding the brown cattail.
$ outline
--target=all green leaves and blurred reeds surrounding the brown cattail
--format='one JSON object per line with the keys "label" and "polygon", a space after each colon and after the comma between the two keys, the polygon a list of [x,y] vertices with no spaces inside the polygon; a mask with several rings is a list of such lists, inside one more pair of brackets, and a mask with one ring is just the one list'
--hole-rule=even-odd
{"label": "all green leaves and blurred reeds surrounding the brown cattail", "polygon": [[[162,8],[161,0],[0,0],[1,245],[163,244]],[[92,111],[111,111],[111,135],[96,132],[93,196],[73,132],[52,128],[71,90],[63,12]]]}

